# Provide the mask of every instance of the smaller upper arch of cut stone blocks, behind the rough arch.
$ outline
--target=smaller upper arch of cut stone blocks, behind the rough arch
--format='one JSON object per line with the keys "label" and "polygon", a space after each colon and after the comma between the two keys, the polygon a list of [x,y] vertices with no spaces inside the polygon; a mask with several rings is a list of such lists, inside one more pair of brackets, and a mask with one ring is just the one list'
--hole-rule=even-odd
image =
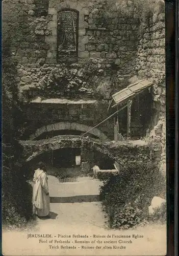
{"label": "smaller upper arch of cut stone blocks, behind the rough arch", "polygon": [[[71,131],[81,131],[82,133],[85,133],[89,131],[91,128],[92,126],[88,126],[81,123],[58,122],[58,123],[48,124],[40,127],[39,129],[36,130],[34,134],[30,135],[29,139],[34,140],[37,137],[39,137],[41,134],[51,132],[51,131],[71,130]],[[108,141],[108,137],[97,128],[94,128],[89,133],[99,138],[101,141]]]}

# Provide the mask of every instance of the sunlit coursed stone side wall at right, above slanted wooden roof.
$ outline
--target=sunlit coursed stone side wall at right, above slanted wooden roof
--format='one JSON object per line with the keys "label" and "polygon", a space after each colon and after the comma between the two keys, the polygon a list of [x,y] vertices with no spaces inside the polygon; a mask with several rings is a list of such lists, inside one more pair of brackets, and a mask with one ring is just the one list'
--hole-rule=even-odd
{"label": "sunlit coursed stone side wall at right, above slanted wooden roof", "polygon": [[[147,20],[139,27],[138,58],[136,70],[139,78],[154,83],[151,89],[153,108],[157,119],[165,115],[165,3],[156,2],[154,13],[147,14]],[[155,120],[153,126],[157,124]]]}

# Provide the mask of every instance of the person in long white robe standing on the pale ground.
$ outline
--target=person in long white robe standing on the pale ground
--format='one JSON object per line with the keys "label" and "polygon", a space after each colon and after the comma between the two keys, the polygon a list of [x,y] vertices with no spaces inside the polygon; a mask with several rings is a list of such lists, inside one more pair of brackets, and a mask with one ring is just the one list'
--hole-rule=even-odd
{"label": "person in long white robe standing on the pale ground", "polygon": [[39,217],[47,217],[50,211],[50,200],[48,181],[46,173],[43,171],[43,164],[39,163],[40,168],[35,170],[33,180],[33,214]]}

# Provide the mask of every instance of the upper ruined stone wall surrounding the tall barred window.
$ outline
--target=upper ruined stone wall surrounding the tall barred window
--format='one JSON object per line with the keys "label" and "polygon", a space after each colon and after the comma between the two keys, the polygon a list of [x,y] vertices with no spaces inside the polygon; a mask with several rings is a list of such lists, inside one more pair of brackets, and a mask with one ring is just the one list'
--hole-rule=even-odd
{"label": "upper ruined stone wall surrounding the tall barred window", "polygon": [[[165,73],[164,4],[153,1],[155,15],[148,18],[146,12],[142,19],[145,2],[20,0],[17,3],[5,0],[3,31],[8,36],[12,34],[8,39],[14,58],[19,62],[17,81],[20,88],[31,90],[46,74],[52,73],[54,68],[59,69],[57,13],[72,8],[79,11],[79,53],[73,62],[82,63],[83,67],[91,58],[98,71],[107,70],[104,77],[115,77],[110,94],[129,83],[133,75],[152,77],[156,84],[154,104],[159,103],[155,108],[162,108],[165,92],[159,84],[163,83]],[[67,60],[62,58],[66,64]],[[158,94],[161,94],[161,102]]]}

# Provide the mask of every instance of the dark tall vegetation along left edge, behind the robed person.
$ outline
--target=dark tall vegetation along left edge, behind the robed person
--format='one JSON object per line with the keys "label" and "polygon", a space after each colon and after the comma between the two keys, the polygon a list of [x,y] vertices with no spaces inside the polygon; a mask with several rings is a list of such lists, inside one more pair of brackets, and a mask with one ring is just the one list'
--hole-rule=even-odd
{"label": "dark tall vegetation along left edge, behind the robed person", "polygon": [[16,61],[10,54],[9,41],[3,41],[3,224],[23,226],[31,218],[31,186],[26,182],[20,159],[18,138],[24,118],[21,114],[16,85]]}

